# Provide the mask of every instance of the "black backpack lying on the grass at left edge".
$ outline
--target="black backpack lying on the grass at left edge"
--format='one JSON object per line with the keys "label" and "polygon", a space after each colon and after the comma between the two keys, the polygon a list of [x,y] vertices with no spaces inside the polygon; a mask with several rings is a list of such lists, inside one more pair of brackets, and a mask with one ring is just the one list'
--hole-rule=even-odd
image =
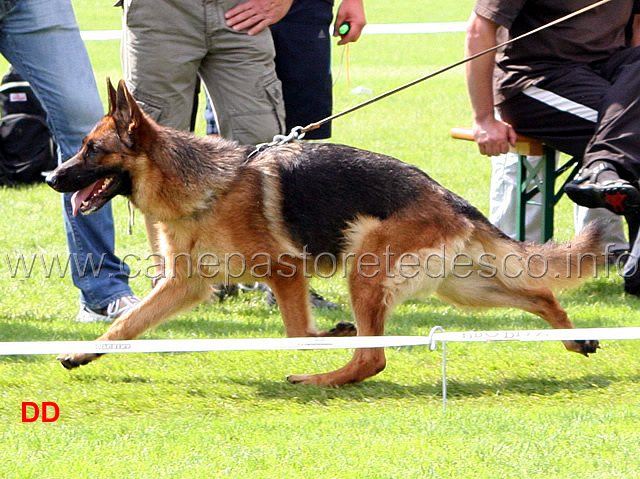
{"label": "black backpack lying on the grass at left edge", "polygon": [[31,86],[13,68],[0,83],[0,185],[38,183],[56,167],[56,145]]}

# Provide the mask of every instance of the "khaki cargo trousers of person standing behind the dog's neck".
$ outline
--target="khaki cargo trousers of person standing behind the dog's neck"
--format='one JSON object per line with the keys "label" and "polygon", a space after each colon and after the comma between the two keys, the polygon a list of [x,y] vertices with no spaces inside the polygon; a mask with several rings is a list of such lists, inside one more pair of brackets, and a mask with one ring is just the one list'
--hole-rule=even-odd
{"label": "khaki cargo trousers of person standing behind the dog's neck", "polygon": [[284,133],[282,87],[269,29],[249,36],[225,23],[224,13],[242,1],[124,2],[125,81],[158,123],[189,129],[200,75],[223,137],[256,144]]}

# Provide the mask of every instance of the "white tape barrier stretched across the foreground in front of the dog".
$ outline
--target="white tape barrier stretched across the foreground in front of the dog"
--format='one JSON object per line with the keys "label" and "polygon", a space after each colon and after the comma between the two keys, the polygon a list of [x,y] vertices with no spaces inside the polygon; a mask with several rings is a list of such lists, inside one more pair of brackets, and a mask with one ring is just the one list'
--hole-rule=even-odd
{"label": "white tape barrier stretched across the foreground in front of the dog", "polygon": [[138,339],[132,341],[8,341],[0,356],[61,353],[176,353],[212,351],[282,351],[429,346],[437,342],[559,341],[640,339],[640,327],[540,329],[522,331],[443,332],[429,336],[355,336],[339,338]]}

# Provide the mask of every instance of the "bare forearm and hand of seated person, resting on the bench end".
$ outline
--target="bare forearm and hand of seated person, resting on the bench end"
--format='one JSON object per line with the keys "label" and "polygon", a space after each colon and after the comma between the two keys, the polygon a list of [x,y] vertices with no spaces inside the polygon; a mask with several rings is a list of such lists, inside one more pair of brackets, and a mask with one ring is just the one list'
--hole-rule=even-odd
{"label": "bare forearm and hand of seated person, resting on the bench end", "polygon": [[[465,57],[488,50],[497,45],[498,24],[475,12],[467,24]],[[473,137],[480,153],[495,156],[509,151],[515,145],[516,132],[506,122],[495,118],[493,105],[493,69],[495,51],[482,55],[466,64],[467,90],[473,110]]]}

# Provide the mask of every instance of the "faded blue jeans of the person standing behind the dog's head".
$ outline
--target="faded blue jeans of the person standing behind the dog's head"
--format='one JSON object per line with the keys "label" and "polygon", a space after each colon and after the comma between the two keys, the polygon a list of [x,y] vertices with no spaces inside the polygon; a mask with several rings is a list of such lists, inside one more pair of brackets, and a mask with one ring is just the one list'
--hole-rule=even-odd
{"label": "faded blue jeans of the person standing behind the dog's head", "polygon": [[[58,161],[75,155],[103,108],[70,0],[0,0],[0,52],[46,110]],[[62,195],[73,284],[82,302],[101,309],[133,294],[129,269],[114,254],[111,204],[74,217],[70,197]]]}

